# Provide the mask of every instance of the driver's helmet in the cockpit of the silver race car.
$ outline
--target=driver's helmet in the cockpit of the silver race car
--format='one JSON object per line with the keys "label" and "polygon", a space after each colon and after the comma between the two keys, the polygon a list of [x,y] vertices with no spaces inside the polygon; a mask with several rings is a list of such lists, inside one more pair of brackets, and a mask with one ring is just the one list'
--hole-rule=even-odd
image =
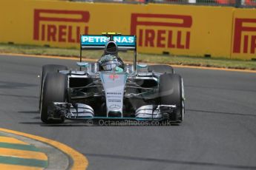
{"label": "driver's helmet in the cockpit of the silver race car", "polygon": [[99,66],[102,67],[105,71],[111,71],[116,69],[116,67],[123,67],[122,60],[113,54],[102,55],[102,58],[99,60]]}

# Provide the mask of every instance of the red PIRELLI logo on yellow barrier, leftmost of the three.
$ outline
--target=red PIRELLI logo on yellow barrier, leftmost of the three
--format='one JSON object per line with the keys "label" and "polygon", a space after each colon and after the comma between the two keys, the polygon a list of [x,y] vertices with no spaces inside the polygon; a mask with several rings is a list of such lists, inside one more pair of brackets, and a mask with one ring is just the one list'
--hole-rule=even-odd
{"label": "red PIRELLI logo on yellow barrier, leftmost of the three", "polygon": [[34,10],[33,40],[79,43],[88,34],[90,13],[82,10]]}

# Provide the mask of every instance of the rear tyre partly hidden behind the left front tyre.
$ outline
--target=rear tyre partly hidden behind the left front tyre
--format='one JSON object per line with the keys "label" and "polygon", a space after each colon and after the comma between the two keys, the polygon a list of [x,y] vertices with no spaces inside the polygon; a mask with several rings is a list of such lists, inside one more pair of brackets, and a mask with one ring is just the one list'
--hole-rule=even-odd
{"label": "rear tyre partly hidden behind the left front tyre", "polygon": [[48,72],[59,72],[59,70],[68,70],[68,67],[58,65],[58,64],[47,64],[42,67],[41,81],[40,81],[39,109],[41,108],[42,84],[44,82],[45,76],[47,75]]}

